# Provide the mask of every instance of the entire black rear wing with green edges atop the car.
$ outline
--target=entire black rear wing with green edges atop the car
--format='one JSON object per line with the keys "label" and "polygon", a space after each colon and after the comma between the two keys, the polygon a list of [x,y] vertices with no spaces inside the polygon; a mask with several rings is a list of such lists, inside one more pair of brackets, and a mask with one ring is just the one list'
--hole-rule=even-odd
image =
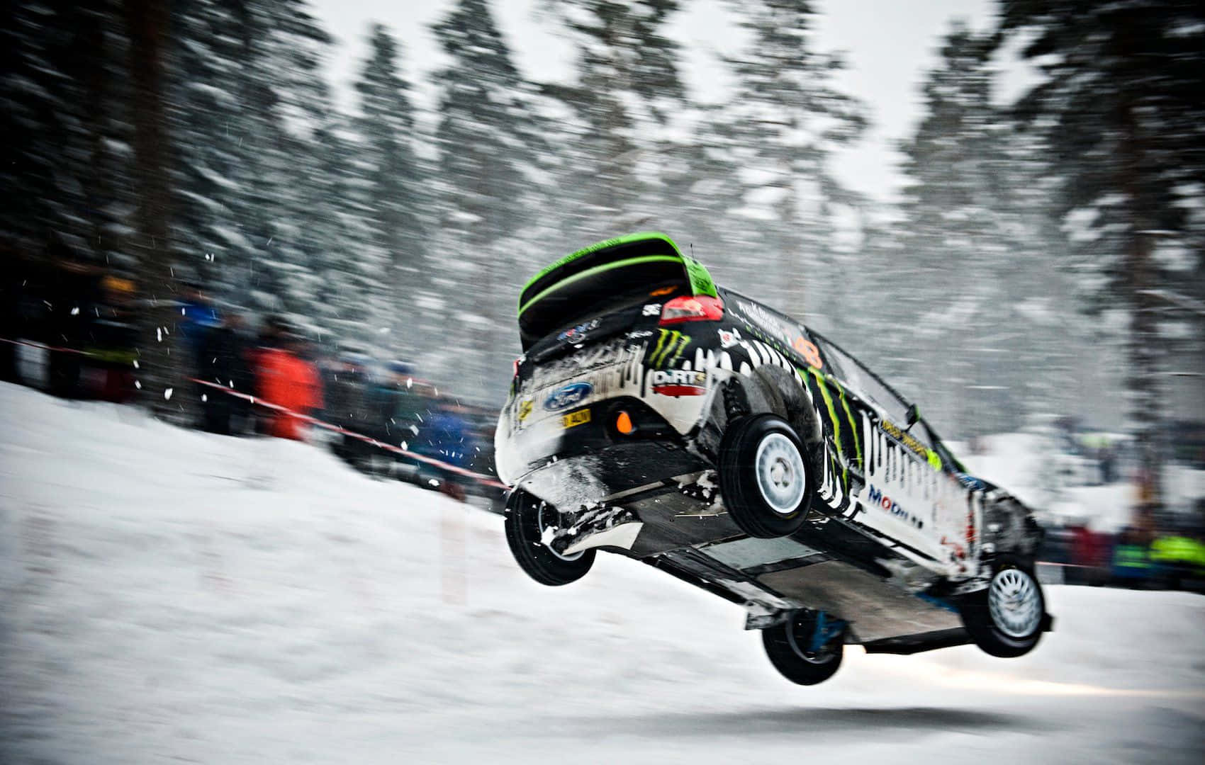
{"label": "entire black rear wing with green edges atop the car", "polygon": [[523,347],[581,318],[609,294],[663,283],[681,284],[693,295],[718,296],[707,269],[657,231],[629,234],[570,253],[531,277],[519,293]]}

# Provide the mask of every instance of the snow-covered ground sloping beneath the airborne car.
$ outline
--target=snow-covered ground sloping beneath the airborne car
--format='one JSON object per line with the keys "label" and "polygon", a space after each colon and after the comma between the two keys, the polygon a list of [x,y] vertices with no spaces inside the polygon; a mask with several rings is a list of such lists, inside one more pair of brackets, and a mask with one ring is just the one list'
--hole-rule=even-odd
{"label": "snow-covered ground sloping beneath the airborne car", "polygon": [[0,384],[0,763],[1200,763],[1205,598],[1054,587],[1022,659],[853,648],[302,445]]}

